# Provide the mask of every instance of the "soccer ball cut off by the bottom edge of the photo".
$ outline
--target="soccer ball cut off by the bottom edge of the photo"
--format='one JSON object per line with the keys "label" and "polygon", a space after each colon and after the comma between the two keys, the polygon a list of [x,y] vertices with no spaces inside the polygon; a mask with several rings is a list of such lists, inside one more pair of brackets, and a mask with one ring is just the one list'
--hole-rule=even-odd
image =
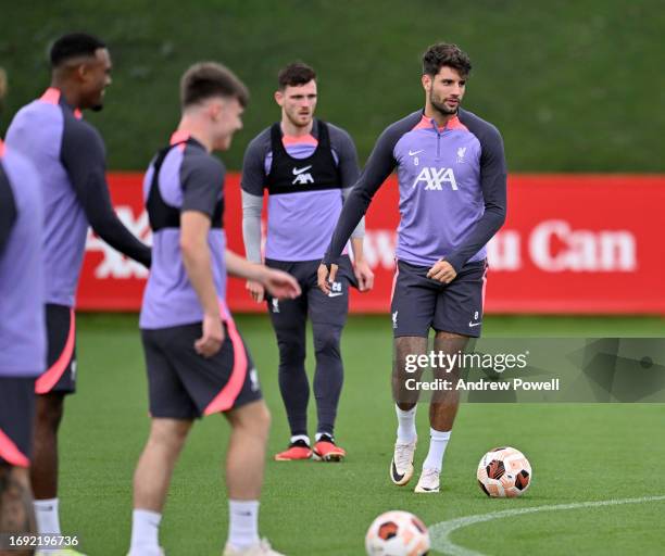
{"label": "soccer ball cut off by the bottom edge of the photo", "polygon": [[368,556],[425,556],[429,533],[413,514],[386,511],[369,526],[365,548]]}

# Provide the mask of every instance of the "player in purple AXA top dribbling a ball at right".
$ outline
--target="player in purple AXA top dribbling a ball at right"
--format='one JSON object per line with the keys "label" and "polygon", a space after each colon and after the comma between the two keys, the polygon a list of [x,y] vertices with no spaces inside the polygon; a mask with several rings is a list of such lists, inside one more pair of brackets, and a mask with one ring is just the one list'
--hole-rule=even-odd
{"label": "player in purple AXA top dribbling a ball at right", "polygon": [[[455,45],[438,43],[423,55],[425,110],[390,125],[374,147],[344,204],[322,265],[318,285],[330,291],[337,257],[372,197],[398,172],[401,222],[392,295],[398,431],[390,477],[413,476],[416,394],[405,390],[407,355],[424,354],[429,329],[435,351],[456,353],[482,324],[486,244],[505,220],[506,167],[494,126],[460,109],[470,61]],[[450,376],[455,383],[459,369]],[[413,375],[412,375],[413,376]],[[438,392],[429,407],[429,453],[416,492],[438,492],[443,454],[459,392]]]}

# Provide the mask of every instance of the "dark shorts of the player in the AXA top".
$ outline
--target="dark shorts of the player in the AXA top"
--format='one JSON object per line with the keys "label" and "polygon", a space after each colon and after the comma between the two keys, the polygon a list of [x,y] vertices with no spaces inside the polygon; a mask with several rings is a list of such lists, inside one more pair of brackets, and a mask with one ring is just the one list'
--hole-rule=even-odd
{"label": "dark shorts of the player in the AXA top", "polygon": [[394,338],[427,338],[430,328],[478,338],[487,262],[467,263],[448,285],[427,278],[429,268],[398,261],[390,308]]}

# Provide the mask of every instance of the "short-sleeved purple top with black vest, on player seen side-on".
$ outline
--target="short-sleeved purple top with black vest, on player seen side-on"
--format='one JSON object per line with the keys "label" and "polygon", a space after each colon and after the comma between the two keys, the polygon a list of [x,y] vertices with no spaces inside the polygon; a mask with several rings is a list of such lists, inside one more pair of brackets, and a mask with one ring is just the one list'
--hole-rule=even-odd
{"label": "short-sleeved purple top with black vest, on player seen side-on", "polygon": [[[188,134],[176,131],[152,160],[143,198],[153,231],[152,266],[139,326],[159,329],[203,320],[203,308],[189,281],[180,250],[180,214],[198,211],[211,218],[208,235],[217,299],[226,307],[224,164]],[[224,308],[224,311],[226,311]],[[223,315],[224,316],[224,315]]]}

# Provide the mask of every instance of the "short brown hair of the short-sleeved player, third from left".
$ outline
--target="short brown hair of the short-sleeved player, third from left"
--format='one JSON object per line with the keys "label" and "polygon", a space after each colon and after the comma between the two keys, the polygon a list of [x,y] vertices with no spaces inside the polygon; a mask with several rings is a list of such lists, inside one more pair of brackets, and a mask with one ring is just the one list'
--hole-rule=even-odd
{"label": "short brown hair of the short-sleeved player, third from left", "polygon": [[249,90],[228,67],[217,62],[199,62],[185,72],[180,79],[183,108],[198,104],[212,97],[238,99],[242,108],[249,102]]}

